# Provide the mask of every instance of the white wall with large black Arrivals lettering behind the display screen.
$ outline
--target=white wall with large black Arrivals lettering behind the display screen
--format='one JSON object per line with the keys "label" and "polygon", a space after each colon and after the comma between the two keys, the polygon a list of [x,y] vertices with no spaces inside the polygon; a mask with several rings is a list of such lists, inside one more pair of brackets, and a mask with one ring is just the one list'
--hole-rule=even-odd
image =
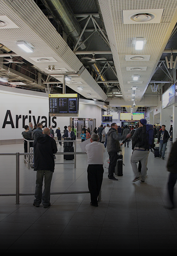
{"label": "white wall with large black Arrivals lettering behind the display screen", "polygon": [[[83,104],[80,101],[78,117],[96,118],[97,126],[99,126],[101,108]],[[5,118],[6,115],[7,118]],[[60,127],[61,132],[65,125],[70,124],[70,117],[49,117],[47,94],[0,85],[0,140],[21,139],[24,124],[28,125],[30,119],[33,125],[36,120],[36,123],[42,122],[46,127],[51,124],[54,131]]]}

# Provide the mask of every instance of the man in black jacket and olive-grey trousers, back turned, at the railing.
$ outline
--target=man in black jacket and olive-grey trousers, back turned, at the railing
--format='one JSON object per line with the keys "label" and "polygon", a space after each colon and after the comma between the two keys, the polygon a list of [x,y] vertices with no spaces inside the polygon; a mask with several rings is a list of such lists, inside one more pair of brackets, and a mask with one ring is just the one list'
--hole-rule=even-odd
{"label": "man in black jacket and olive-grey trousers, back turned, at the railing", "polygon": [[[36,190],[33,205],[39,207],[42,202],[43,207],[47,208],[50,204],[50,187],[55,162],[53,154],[57,153],[55,139],[50,136],[50,129],[44,128],[42,136],[34,141],[34,171],[36,174]],[[44,179],[44,191],[42,193],[42,183]]]}

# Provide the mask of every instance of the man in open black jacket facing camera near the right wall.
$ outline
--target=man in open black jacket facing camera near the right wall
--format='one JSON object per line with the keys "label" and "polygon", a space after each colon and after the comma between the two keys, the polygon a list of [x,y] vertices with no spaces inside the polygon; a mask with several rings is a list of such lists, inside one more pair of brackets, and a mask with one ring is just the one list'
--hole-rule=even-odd
{"label": "man in open black jacket facing camera near the right wall", "polygon": [[170,138],[169,133],[165,129],[165,125],[163,124],[161,126],[161,130],[158,133],[158,140],[157,143],[159,143],[159,155],[164,160],[165,159],[165,150],[167,147],[167,141]]}

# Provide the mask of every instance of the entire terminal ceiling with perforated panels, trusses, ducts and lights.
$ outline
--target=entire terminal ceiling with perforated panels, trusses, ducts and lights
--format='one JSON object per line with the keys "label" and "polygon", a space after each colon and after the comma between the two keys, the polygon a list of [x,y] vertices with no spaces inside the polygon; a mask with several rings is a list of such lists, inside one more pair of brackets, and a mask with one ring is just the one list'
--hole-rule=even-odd
{"label": "entire terminal ceiling with perforated panels, trusses, ducts and lights", "polygon": [[129,111],[151,107],[141,100],[176,80],[177,0],[0,0],[0,7],[5,86],[62,93],[67,77],[66,93]]}

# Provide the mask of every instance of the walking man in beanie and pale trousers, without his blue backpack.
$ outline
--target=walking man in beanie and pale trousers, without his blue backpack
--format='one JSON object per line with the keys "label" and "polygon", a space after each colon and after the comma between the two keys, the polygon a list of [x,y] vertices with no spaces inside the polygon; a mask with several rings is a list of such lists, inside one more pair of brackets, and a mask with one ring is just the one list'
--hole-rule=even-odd
{"label": "walking man in beanie and pale trousers, without his blue backpack", "polygon": [[[131,155],[131,166],[135,175],[135,179],[133,182],[138,181],[141,179],[141,182],[144,182],[146,179],[146,172],[147,172],[147,160],[149,156],[149,149],[146,148],[146,144],[143,141],[143,134],[142,134],[142,128],[143,125],[146,124],[146,119],[140,120],[140,127],[135,130],[135,133],[133,134],[132,138],[132,148],[133,153]],[[138,161],[141,161],[141,173],[138,171],[137,163]]]}

